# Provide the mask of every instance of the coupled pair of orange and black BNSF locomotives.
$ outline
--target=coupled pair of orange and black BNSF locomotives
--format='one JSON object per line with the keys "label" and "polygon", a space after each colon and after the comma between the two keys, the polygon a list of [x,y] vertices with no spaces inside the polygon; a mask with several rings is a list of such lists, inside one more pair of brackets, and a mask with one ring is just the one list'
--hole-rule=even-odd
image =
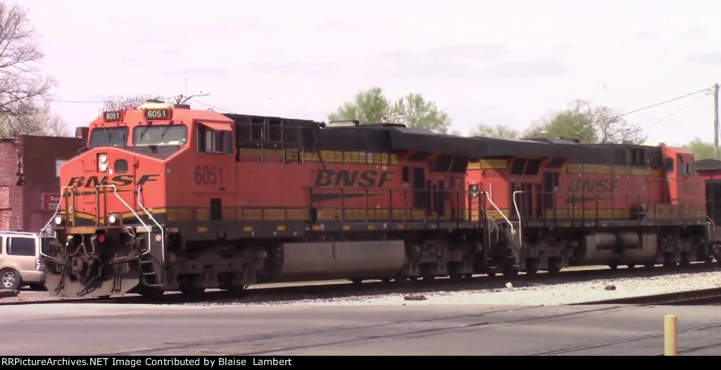
{"label": "coupled pair of orange and black BNSF locomotives", "polygon": [[146,104],[61,166],[51,294],[711,261],[689,151]]}

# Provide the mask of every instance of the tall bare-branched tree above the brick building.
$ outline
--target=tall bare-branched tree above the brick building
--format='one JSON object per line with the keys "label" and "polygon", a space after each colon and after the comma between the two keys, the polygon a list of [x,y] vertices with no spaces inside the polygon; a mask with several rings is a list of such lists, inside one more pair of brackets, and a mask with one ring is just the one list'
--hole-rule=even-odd
{"label": "tall bare-branched tree above the brick building", "polygon": [[27,131],[14,123],[35,120],[43,115],[55,80],[43,75],[44,57],[35,40],[35,30],[27,20],[27,10],[0,2],[0,128],[4,134]]}

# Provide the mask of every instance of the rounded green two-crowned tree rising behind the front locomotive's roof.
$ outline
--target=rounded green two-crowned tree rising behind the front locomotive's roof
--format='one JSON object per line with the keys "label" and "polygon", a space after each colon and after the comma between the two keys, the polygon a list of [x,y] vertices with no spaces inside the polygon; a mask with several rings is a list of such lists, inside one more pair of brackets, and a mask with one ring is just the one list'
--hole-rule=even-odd
{"label": "rounded green two-crowned tree rising behind the front locomotive's roof", "polygon": [[372,87],[355,94],[353,100],[338,107],[328,120],[358,120],[367,123],[405,123],[408,127],[428,128],[448,133],[451,119],[435,102],[427,101],[420,94],[410,93],[391,102],[380,87]]}

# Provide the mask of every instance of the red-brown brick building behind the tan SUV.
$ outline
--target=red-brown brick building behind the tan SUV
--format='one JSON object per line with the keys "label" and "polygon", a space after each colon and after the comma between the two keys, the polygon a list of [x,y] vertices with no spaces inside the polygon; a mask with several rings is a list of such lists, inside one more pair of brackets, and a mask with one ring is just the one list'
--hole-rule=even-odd
{"label": "red-brown brick building behind the tan SUV", "polygon": [[0,138],[0,230],[40,232],[60,200],[60,164],[87,143],[76,137]]}

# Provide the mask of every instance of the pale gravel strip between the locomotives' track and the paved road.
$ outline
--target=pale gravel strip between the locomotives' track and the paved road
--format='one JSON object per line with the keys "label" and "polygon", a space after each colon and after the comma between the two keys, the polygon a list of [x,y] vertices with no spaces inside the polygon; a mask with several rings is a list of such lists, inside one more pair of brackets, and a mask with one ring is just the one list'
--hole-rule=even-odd
{"label": "pale gravel strip between the locomotives' track and the paved road", "polygon": [[[504,283],[479,283],[459,289],[438,288],[384,291],[380,294],[332,294],[328,298],[313,298],[304,294],[272,294],[256,296],[254,288],[270,288],[270,284],[251,287],[247,296],[223,301],[195,301],[185,305],[200,306],[267,306],[267,305],[418,305],[418,304],[528,304],[557,305],[585,301],[619,299],[631,296],[665,294],[721,286],[721,269],[712,272],[678,273],[661,276],[599,278],[587,281],[563,281],[563,274],[552,281],[513,281],[511,288]],[[273,284],[275,287],[324,285],[340,281]],[[415,290],[415,291],[414,291]],[[338,288],[342,292],[342,288]],[[57,301],[68,298],[50,297],[47,291],[22,290],[17,296],[0,298],[0,304],[17,301]]]}

